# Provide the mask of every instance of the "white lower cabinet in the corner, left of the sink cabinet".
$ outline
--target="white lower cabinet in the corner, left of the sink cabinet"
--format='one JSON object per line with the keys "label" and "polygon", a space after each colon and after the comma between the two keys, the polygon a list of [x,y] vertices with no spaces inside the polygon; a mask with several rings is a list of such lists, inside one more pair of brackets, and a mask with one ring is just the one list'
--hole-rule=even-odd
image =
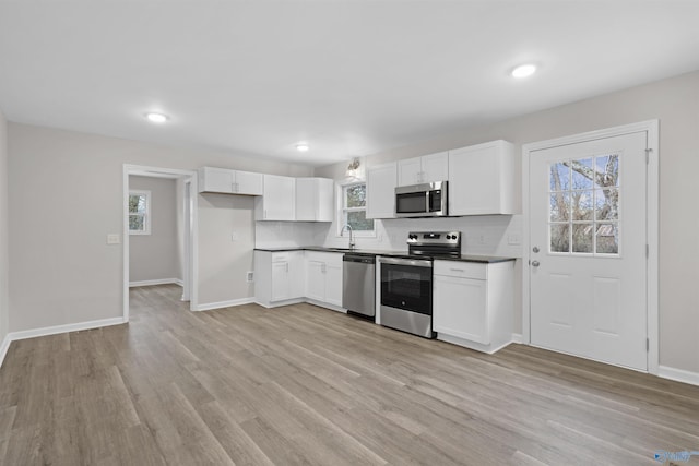
{"label": "white lower cabinet in the corner, left of the sink cabinet", "polygon": [[304,296],[304,251],[254,251],[254,298],[266,308]]}

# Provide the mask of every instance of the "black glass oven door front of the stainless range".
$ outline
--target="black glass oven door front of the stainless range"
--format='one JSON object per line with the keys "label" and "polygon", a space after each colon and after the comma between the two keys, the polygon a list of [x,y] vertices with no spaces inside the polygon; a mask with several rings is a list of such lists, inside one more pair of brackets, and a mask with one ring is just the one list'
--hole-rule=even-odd
{"label": "black glass oven door front of the stainless range", "polygon": [[381,304],[431,315],[431,267],[381,264]]}

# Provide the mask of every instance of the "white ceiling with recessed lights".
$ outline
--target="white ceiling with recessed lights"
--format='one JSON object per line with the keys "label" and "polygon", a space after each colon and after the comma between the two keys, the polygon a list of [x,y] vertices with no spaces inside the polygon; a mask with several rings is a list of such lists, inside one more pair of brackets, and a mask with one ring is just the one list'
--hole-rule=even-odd
{"label": "white ceiling with recessed lights", "polygon": [[[319,166],[697,70],[698,19],[699,0],[0,0],[0,109]],[[521,62],[540,72],[516,81]]]}

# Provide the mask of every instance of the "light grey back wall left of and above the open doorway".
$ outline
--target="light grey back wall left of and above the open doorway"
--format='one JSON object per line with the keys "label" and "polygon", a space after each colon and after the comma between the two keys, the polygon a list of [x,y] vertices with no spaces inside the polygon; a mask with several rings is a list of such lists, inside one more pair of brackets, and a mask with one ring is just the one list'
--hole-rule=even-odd
{"label": "light grey back wall left of and above the open doorway", "polygon": [[[122,247],[108,246],[106,236],[122,231],[123,164],[178,169],[211,165],[299,177],[312,171],[224,152],[19,123],[8,128],[11,332],[122,315]],[[204,219],[200,230],[206,229]],[[205,250],[201,241],[200,250]],[[216,275],[208,272],[205,262],[200,274],[205,291],[206,279]],[[232,288],[227,296],[235,299],[238,291]],[[204,302],[206,295],[201,298]]]}

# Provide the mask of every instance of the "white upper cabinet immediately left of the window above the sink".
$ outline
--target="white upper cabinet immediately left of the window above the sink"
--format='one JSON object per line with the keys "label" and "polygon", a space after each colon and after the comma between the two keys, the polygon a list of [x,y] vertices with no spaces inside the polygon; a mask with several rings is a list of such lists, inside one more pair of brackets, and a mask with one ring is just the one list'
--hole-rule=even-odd
{"label": "white upper cabinet immediately left of the window above the sink", "polygon": [[335,182],[329,178],[296,178],[296,219],[332,222]]}

